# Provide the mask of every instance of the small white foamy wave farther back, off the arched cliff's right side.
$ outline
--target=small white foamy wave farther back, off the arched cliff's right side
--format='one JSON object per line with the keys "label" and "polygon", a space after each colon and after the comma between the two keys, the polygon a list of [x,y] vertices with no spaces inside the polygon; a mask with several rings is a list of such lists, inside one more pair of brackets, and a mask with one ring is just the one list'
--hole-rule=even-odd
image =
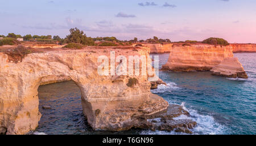
{"label": "small white foamy wave farther back, off the arched cliff's right side", "polygon": [[174,91],[177,89],[180,89],[179,87],[177,87],[177,84],[170,82],[170,83],[167,83],[166,85],[164,85],[164,84],[158,85],[158,88],[151,90],[151,92],[152,93],[164,93],[164,92],[171,92],[171,91]]}

